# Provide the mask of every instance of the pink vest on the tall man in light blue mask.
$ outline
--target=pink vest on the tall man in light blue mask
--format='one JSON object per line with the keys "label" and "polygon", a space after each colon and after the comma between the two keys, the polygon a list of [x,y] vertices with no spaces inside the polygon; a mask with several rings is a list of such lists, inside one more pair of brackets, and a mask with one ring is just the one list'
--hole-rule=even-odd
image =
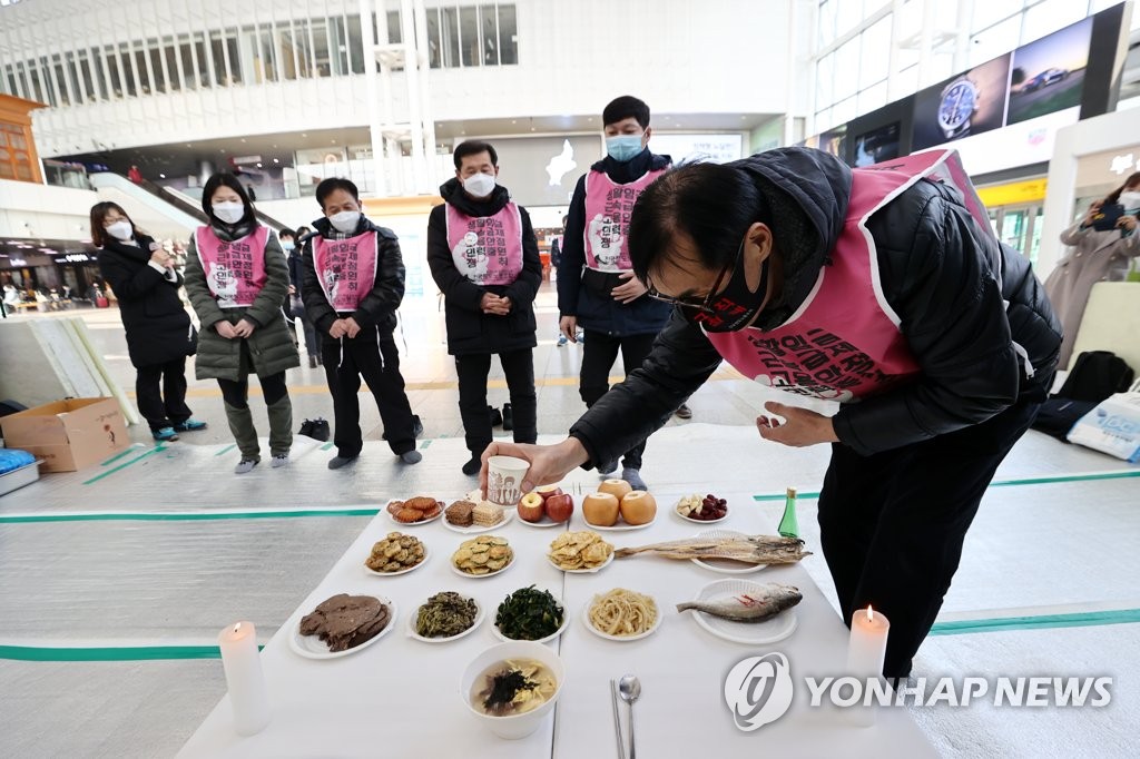
{"label": "pink vest on the tall man in light blue mask", "polygon": [[586,268],[630,271],[629,217],[634,203],[665,169],[648,171],[628,185],[618,185],[603,171],[586,174]]}

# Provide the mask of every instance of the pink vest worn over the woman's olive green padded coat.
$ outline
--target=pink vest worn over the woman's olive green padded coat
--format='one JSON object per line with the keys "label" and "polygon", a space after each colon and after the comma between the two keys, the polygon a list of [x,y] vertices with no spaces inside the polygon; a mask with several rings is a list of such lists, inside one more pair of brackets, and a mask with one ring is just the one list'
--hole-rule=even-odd
{"label": "pink vest worn over the woman's olive green padded coat", "polygon": [[218,237],[210,227],[198,227],[195,242],[206,286],[219,308],[253,305],[266,286],[266,242],[269,228],[258,225],[251,234],[233,243]]}

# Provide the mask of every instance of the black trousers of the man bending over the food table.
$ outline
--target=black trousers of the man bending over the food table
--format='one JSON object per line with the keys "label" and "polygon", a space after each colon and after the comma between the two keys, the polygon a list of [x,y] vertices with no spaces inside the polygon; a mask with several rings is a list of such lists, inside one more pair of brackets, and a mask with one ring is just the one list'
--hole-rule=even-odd
{"label": "black trousers of the man bending over the food table", "polygon": [[1039,408],[1023,401],[972,427],[873,456],[832,444],[820,493],[823,555],[848,626],[868,604],[890,620],[885,676],[910,674],[982,496]]}

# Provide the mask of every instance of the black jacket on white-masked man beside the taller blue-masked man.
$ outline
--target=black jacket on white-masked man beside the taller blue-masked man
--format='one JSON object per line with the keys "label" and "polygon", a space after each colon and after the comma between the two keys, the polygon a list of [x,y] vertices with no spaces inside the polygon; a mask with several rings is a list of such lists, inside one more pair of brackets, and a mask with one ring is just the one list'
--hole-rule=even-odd
{"label": "black jacket on white-masked man beside the taller blue-masked man", "polygon": [[[505,187],[496,186],[490,198],[473,201],[457,179],[439,188],[440,195],[469,217],[490,217],[503,210],[511,199]],[[538,242],[530,223],[530,214],[519,206],[522,219],[522,271],[510,285],[477,285],[455,267],[451,246],[447,240],[447,205],[437,205],[427,219],[427,266],[431,276],[443,293],[447,320],[447,352],[451,356],[502,353],[534,348],[538,344],[535,333],[535,294],[543,280],[543,262],[538,258]],[[504,316],[483,313],[484,293],[511,299],[511,312]]]}

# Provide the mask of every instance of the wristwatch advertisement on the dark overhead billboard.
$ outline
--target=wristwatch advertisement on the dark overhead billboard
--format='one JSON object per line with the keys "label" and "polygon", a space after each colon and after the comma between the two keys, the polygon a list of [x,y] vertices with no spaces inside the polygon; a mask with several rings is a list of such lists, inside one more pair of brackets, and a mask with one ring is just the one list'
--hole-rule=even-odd
{"label": "wristwatch advertisement on the dark overhead billboard", "polygon": [[1009,92],[1010,54],[928,87],[914,96],[912,150],[1000,129]]}

